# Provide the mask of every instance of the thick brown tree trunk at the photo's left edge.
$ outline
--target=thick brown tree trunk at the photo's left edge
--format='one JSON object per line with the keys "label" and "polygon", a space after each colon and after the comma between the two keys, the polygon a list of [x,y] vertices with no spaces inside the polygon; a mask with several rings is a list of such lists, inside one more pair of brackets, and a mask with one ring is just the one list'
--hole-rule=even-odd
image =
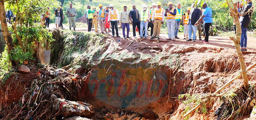
{"label": "thick brown tree trunk at the photo's left edge", "polygon": [[[4,0],[0,0],[0,21],[1,21],[2,32],[3,32],[3,36],[7,46],[7,50],[9,52],[9,55],[11,55],[11,50],[14,49],[14,45],[12,42],[11,34],[9,33],[8,27],[7,27],[7,22],[5,18],[5,1]],[[10,58],[10,61],[12,66],[17,65],[14,60],[11,60],[11,58]]]}

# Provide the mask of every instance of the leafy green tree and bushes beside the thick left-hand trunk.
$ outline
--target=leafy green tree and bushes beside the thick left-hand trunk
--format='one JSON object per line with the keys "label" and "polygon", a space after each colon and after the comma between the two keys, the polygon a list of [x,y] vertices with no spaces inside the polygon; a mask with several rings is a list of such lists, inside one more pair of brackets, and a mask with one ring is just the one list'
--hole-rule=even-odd
{"label": "leafy green tree and bushes beside the thick left-hand trunk", "polygon": [[[52,33],[36,23],[36,21],[41,21],[39,15],[42,15],[48,4],[52,2],[53,0],[6,1],[5,7],[12,9],[16,14],[16,20],[12,20],[11,27],[8,27],[11,36],[5,36],[10,43],[8,46],[11,46],[11,49],[8,49],[11,56],[8,58],[12,64],[22,64],[24,60],[32,60],[34,51],[39,48],[39,42],[43,43],[42,46],[47,49],[49,44],[54,41]],[[5,69],[6,65],[2,65],[0,68]]]}

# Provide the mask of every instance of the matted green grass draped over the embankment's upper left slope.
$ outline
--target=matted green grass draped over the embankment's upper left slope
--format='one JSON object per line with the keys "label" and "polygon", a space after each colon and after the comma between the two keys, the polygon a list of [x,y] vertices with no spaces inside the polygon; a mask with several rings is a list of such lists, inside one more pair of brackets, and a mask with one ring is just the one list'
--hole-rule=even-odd
{"label": "matted green grass draped over the embankment's upper left slope", "polygon": [[64,31],[63,34],[69,37],[64,40],[64,49],[58,67],[64,67],[71,63],[73,65],[86,65],[87,63],[82,63],[84,59],[87,59],[86,62],[93,64],[92,60],[105,50],[106,44],[104,44],[103,39],[107,35],[68,30]]}

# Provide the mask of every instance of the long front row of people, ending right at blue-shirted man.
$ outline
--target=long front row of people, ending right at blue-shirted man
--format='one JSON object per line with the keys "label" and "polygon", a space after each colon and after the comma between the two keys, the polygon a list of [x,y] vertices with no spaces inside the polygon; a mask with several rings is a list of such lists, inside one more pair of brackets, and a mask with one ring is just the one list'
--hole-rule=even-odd
{"label": "long front row of people, ending right at blue-shirted man", "polygon": [[[89,32],[91,32],[93,24],[95,25],[95,32],[98,32],[97,27],[99,22],[101,33],[109,33],[111,25],[112,36],[114,37],[116,34],[117,37],[120,37],[117,26],[121,23],[123,38],[126,39],[130,38],[130,24],[132,24],[134,38],[136,38],[136,28],[138,29],[140,38],[147,38],[147,35],[149,35],[148,29],[151,28],[150,39],[160,39],[161,25],[166,18],[168,29],[167,40],[175,41],[175,39],[179,39],[177,35],[181,22],[184,26],[184,39],[186,41],[195,42],[197,29],[199,40],[201,40],[201,23],[203,23],[205,33],[203,43],[209,44],[209,29],[213,20],[212,10],[206,3],[202,6],[203,10],[196,8],[195,3],[192,3],[192,7],[188,7],[187,11],[184,13],[180,3],[177,4],[177,8],[174,8],[172,2],[168,3],[168,9],[165,10],[161,7],[160,2],[157,4],[153,3],[150,9],[148,9],[147,5],[143,4],[141,11],[136,9],[135,4],[132,5],[130,11],[127,11],[127,6],[125,5],[120,14],[117,9],[114,9],[113,4],[110,4],[105,9],[102,7],[102,4],[99,4],[98,7],[99,10],[96,11],[95,7],[91,9],[91,6],[88,5],[85,11],[85,20],[88,23]],[[106,31],[107,29],[108,31]]]}

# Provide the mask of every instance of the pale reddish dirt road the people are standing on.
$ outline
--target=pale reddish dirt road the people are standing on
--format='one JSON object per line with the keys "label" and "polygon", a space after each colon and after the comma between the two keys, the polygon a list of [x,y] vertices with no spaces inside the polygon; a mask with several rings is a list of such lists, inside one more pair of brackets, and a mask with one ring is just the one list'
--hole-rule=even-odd
{"label": "pale reddish dirt road the people are standing on", "polygon": [[[84,24],[85,27],[77,27],[76,28],[76,31],[87,31],[87,24],[86,23],[82,23]],[[130,26],[130,33],[129,33],[129,36],[131,37],[130,40],[139,40],[139,41],[145,41],[145,39],[139,39],[139,33],[136,32],[136,38],[133,38],[133,31],[132,31],[132,26]],[[55,24],[50,24],[50,29],[53,29],[55,28]],[[67,24],[64,25],[64,28],[65,29],[69,29],[69,26],[67,26]],[[73,29],[73,28],[72,28]],[[92,32],[94,32],[95,29],[92,28]],[[98,31],[100,31],[100,28],[98,28]],[[123,39],[123,35],[122,35],[122,29],[118,29],[118,32],[119,32],[119,36],[121,36],[121,40]],[[112,33],[110,32],[110,36],[112,35]],[[179,33],[178,37],[180,39],[176,39],[176,41],[167,41],[166,38],[167,38],[167,34],[160,34],[160,40],[157,40],[157,39],[154,39],[154,40],[150,40],[150,36],[148,36],[147,40],[146,41],[151,41],[151,42],[160,42],[160,43],[163,43],[163,44],[172,44],[174,46],[176,45],[179,45],[179,46],[201,46],[201,47],[213,47],[213,48],[216,48],[216,47],[221,47],[221,48],[224,48],[224,49],[235,49],[234,47],[232,47],[233,45],[233,41],[231,41],[229,39],[229,36],[210,36],[209,37],[209,42],[210,44],[202,44],[201,41],[198,40],[198,37],[197,37],[197,40],[196,42],[192,42],[192,41],[189,41],[187,42],[186,40],[183,40],[183,33]],[[116,38],[116,37],[115,37]],[[118,39],[118,38],[116,38]],[[202,38],[204,40],[204,38]],[[202,40],[202,41],[203,41]],[[248,51],[247,52],[256,52],[256,38],[255,37],[248,37],[248,41],[247,41],[247,49]]]}

